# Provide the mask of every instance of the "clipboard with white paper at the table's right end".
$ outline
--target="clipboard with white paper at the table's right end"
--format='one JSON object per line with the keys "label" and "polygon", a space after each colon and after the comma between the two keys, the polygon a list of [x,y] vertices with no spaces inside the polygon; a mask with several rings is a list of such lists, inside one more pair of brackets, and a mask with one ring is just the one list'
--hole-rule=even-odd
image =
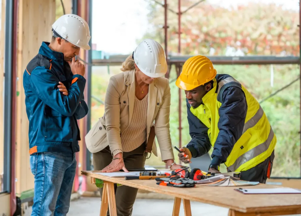
{"label": "clipboard with white paper at the table's right end", "polygon": [[301,190],[293,189],[290,187],[280,187],[280,188],[236,188],[234,189],[243,194],[284,194],[284,193],[301,193]]}

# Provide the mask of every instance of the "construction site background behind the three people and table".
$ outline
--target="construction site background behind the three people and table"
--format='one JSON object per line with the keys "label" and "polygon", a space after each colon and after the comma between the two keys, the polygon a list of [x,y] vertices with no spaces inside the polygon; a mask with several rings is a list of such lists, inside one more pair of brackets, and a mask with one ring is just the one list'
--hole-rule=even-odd
{"label": "construction site background behind the three people and table", "polygon": [[[266,184],[301,189],[300,4],[297,0],[0,0],[0,215],[30,215],[34,177],[29,166],[29,121],[23,73],[51,25],[63,14],[83,17],[91,50],[80,50],[86,66],[87,116],[78,120],[80,151],[68,215],[98,215],[100,194],[81,171],[93,170],[85,135],[104,114],[110,77],[145,38],[164,48],[171,89],[172,144],[191,137],[185,93],[175,85],[191,56],[205,55],[218,74],[239,80],[259,101],[277,135],[271,178]],[[191,168],[208,170],[210,155],[193,158]],[[146,166],[166,169],[151,155]],[[174,154],[178,152],[174,150]],[[180,163],[175,157],[176,163]],[[225,165],[220,170],[227,172]],[[132,215],[171,214],[173,197],[138,191]],[[170,205],[167,205],[170,204]],[[167,207],[168,206],[168,207]],[[228,209],[191,202],[192,215],[228,215]],[[180,215],[184,215],[181,207]],[[300,213],[301,215],[301,213]]]}

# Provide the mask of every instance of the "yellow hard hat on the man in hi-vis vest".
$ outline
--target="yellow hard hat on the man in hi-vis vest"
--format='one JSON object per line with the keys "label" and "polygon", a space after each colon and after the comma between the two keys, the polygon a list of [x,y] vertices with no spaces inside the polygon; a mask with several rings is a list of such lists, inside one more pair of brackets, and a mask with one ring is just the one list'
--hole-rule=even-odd
{"label": "yellow hard hat on the man in hi-vis vest", "polygon": [[175,84],[180,89],[189,91],[213,80],[215,76],[216,69],[210,59],[206,56],[193,56],[184,63]]}

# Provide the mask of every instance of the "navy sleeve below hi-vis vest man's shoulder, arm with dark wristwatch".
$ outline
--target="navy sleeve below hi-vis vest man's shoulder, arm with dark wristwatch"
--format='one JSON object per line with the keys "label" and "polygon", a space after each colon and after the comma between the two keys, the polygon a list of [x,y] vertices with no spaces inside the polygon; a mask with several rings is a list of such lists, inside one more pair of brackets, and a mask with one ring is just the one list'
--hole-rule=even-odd
{"label": "navy sleeve below hi-vis vest man's shoulder, arm with dark wristwatch", "polygon": [[225,163],[234,144],[241,137],[247,114],[247,102],[239,87],[228,87],[222,94],[219,108],[219,134],[211,155],[213,165]]}

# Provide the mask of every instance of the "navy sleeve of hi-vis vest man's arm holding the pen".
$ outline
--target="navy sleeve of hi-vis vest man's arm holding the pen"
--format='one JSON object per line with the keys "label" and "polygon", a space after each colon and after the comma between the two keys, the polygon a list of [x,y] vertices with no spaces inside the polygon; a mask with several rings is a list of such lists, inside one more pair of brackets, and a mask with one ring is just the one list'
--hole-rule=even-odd
{"label": "navy sleeve of hi-vis vest man's arm holding the pen", "polygon": [[191,151],[192,157],[200,157],[211,148],[210,140],[208,137],[208,128],[190,111],[190,105],[186,99],[187,104],[187,119],[189,124],[189,134],[191,141],[187,144],[186,148]]}

